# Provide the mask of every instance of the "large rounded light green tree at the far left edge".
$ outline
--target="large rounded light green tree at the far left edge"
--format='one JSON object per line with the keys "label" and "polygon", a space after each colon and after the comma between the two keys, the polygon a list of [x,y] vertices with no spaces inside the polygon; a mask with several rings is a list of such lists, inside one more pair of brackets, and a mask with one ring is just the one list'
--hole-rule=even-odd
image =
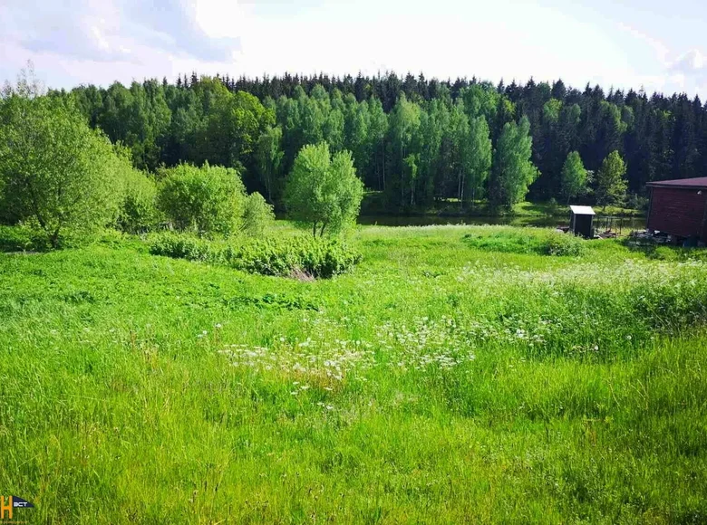
{"label": "large rounded light green tree at the far left edge", "polygon": [[0,207],[56,248],[65,230],[115,219],[121,181],[110,141],[67,100],[12,94],[0,106]]}

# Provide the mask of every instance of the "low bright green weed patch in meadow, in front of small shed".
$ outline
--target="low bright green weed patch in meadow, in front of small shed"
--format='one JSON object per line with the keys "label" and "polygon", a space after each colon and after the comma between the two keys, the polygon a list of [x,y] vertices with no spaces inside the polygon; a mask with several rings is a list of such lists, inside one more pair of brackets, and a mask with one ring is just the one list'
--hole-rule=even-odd
{"label": "low bright green weed patch in meadow, in front of small shed", "polygon": [[466,234],[464,241],[473,248],[489,252],[538,253],[576,257],[586,253],[586,241],[571,234],[526,228],[489,227],[482,234]]}

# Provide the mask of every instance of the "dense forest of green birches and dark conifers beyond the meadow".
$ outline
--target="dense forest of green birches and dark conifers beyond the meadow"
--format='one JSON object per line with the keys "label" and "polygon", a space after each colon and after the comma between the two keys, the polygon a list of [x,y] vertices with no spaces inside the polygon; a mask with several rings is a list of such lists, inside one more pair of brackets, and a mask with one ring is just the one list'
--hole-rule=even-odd
{"label": "dense forest of green birches and dark conifers beyond the meadow", "polygon": [[[136,167],[235,167],[249,190],[276,205],[297,153],[324,141],[333,153],[351,151],[358,176],[383,192],[391,211],[449,198],[466,207],[479,199],[512,205],[528,191],[533,199],[607,204],[609,197],[621,202],[624,187],[644,196],[650,180],[707,173],[707,108],[684,94],[393,73],[237,80],[192,74],[173,84],[50,94],[72,97],[92,127],[131,148]],[[602,177],[604,165],[617,171]],[[599,187],[602,180],[617,186]]]}

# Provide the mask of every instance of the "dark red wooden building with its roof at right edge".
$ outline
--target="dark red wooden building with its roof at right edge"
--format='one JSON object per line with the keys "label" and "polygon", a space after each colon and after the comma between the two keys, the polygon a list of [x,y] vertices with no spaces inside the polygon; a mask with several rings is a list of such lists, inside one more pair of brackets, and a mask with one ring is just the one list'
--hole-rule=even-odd
{"label": "dark red wooden building with its roof at right edge", "polygon": [[707,242],[707,177],[649,182],[647,228]]}

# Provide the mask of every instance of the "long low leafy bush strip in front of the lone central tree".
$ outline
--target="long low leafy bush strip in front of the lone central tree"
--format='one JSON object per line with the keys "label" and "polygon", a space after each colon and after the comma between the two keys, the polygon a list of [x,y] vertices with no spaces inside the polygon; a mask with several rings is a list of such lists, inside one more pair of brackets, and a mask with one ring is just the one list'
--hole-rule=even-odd
{"label": "long low leafy bush strip in front of the lone central tree", "polygon": [[361,253],[339,240],[305,236],[234,245],[183,234],[159,234],[150,242],[150,253],[226,264],[263,275],[289,276],[304,272],[315,278],[333,277],[361,261]]}

